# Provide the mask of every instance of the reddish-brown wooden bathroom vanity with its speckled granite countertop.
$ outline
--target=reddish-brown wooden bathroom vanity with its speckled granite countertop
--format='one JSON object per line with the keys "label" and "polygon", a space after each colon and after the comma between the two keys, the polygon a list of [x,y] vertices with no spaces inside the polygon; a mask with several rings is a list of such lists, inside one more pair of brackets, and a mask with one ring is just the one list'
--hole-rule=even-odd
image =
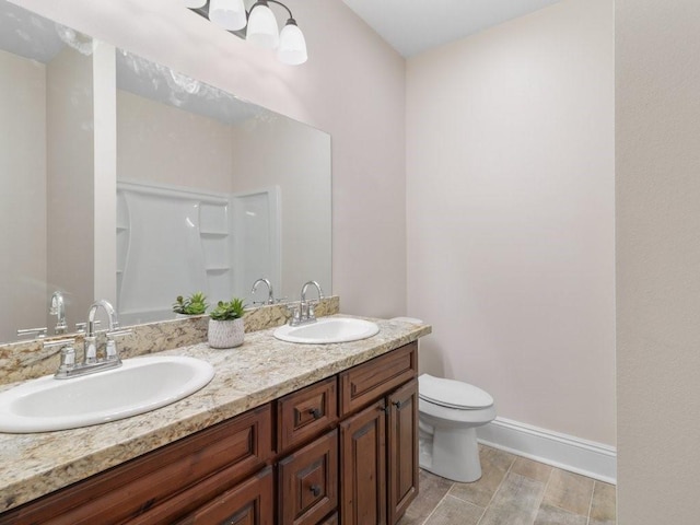
{"label": "reddish-brown wooden bathroom vanity with its speckled granite countertop", "polygon": [[214,380],[122,421],[0,434],[0,524],[396,523],[418,491],[416,341],[430,327],[373,320],[378,335],[348,343],[266,329],[240,349],[172,350]]}

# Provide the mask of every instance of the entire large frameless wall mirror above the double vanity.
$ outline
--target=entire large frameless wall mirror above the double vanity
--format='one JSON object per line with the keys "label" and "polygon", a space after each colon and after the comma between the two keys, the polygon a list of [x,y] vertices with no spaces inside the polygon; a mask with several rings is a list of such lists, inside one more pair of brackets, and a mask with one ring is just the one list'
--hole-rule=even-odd
{"label": "entire large frameless wall mirror above the double vanity", "polygon": [[[330,137],[0,0],[0,342],[331,284]],[[28,335],[27,337],[32,337]]]}

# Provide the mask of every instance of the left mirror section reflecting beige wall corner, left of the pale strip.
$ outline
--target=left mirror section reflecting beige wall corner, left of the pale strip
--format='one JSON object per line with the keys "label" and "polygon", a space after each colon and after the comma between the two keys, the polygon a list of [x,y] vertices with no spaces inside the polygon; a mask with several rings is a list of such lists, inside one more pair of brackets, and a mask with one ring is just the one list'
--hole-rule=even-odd
{"label": "left mirror section reflecting beige wall corner, left of the pale strip", "polygon": [[[0,2],[0,341],[55,332],[93,296],[92,40]],[[33,334],[30,334],[32,336]]]}

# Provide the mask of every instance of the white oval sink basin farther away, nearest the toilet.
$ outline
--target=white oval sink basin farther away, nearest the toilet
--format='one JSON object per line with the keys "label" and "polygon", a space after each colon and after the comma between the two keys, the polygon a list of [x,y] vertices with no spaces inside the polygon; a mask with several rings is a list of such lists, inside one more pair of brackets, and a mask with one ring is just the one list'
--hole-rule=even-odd
{"label": "white oval sink basin farther away, nearest the toilet", "polygon": [[306,345],[327,345],[366,339],[380,331],[376,323],[351,317],[322,317],[315,323],[301,326],[280,326],[272,334],[288,342]]}

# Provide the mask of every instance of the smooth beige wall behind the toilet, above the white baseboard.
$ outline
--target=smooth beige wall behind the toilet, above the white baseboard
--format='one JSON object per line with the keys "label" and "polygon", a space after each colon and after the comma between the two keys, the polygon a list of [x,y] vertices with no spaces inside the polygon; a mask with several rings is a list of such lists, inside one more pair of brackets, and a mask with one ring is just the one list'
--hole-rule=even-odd
{"label": "smooth beige wall behind the toilet, above the white baseboard", "polygon": [[423,370],[485,388],[500,417],[615,445],[612,1],[419,55],[407,86]]}

